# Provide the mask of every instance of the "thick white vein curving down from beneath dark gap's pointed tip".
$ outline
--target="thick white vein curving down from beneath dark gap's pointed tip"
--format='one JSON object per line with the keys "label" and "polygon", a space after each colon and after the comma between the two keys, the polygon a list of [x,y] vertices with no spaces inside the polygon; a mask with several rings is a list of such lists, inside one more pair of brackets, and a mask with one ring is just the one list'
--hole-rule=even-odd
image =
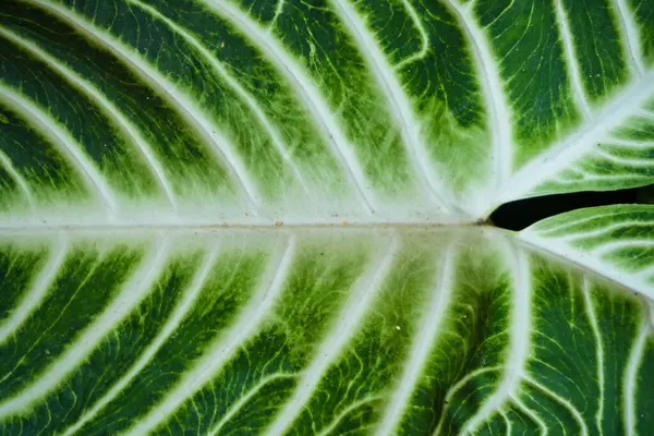
{"label": "thick white vein curving down from beneath dark gap's pointed tip", "polygon": [[507,363],[497,388],[484,401],[477,412],[468,420],[462,429],[464,434],[474,433],[485,420],[500,410],[507,400],[518,391],[524,374],[524,365],[529,358],[532,322],[532,275],[526,254],[518,246],[511,246],[511,249],[514,252],[511,257],[514,257],[514,259],[508,263],[513,279],[513,289],[511,290],[513,302],[511,304],[509,332],[510,348],[507,351],[509,355],[506,356]]}

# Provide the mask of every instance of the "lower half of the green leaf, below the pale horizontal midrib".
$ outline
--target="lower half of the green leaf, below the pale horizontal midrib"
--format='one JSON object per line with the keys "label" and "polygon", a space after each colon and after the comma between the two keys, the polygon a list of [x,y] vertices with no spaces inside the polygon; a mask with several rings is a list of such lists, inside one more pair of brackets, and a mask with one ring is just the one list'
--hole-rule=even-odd
{"label": "lower half of the green leaf, below the pale horizontal midrib", "polygon": [[649,422],[651,306],[495,231],[59,233],[1,253],[7,434]]}

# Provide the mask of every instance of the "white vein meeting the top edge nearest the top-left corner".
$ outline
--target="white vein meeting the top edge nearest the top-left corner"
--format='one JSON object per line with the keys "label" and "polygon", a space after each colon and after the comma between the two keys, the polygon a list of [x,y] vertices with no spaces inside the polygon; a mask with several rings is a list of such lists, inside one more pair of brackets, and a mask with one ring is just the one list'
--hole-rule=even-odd
{"label": "white vein meeting the top edge nearest the top-left corner", "polygon": [[72,10],[63,8],[59,4],[50,3],[47,0],[26,0],[27,2],[36,3],[49,11],[59,15],[63,21],[70,23],[75,28],[82,31],[96,43],[107,48],[113,55],[124,60],[124,65],[141,76],[144,82],[158,88],[162,97],[168,99],[172,107],[177,108],[178,113],[194,125],[197,133],[205,141],[213,144],[210,147],[221,157],[237,183],[241,185],[250,202],[256,207],[259,204],[259,194],[255,186],[255,181],[250,177],[247,168],[243,165],[241,157],[231,145],[230,141],[222,135],[220,129],[207,118],[201,108],[198,108],[193,99],[180,90],[168,77],[159,73],[153,65],[145,61],[138,52],[125,46],[111,34],[96,27],[85,19],[77,15]]}

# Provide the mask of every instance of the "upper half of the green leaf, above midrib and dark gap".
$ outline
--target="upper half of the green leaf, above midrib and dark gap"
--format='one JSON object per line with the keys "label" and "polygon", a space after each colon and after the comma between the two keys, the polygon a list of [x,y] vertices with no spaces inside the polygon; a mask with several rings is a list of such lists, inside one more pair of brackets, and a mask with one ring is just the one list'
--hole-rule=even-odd
{"label": "upper half of the green leaf, above midrib and dark gap", "polygon": [[652,177],[646,4],[8,4],[4,226],[460,223]]}

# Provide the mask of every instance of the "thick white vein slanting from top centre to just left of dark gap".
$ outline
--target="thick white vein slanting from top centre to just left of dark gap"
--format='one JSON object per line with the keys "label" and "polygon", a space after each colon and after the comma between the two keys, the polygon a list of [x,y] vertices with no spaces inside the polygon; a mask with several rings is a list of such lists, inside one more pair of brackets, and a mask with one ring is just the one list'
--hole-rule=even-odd
{"label": "thick white vein slanting from top centre to just left of dark gap", "polygon": [[402,144],[405,146],[411,164],[419,180],[429,190],[434,202],[445,209],[452,208],[452,201],[445,198],[444,181],[429,168],[429,153],[421,137],[421,125],[413,113],[411,101],[402,89],[392,72],[392,68],[382,52],[379,45],[375,41],[371,32],[361,21],[359,13],[347,0],[332,0],[337,14],[346,23],[354,40],[359,45],[360,52],[367,61],[375,80],[379,84],[386,100],[390,107],[392,117],[399,124],[402,135]]}

